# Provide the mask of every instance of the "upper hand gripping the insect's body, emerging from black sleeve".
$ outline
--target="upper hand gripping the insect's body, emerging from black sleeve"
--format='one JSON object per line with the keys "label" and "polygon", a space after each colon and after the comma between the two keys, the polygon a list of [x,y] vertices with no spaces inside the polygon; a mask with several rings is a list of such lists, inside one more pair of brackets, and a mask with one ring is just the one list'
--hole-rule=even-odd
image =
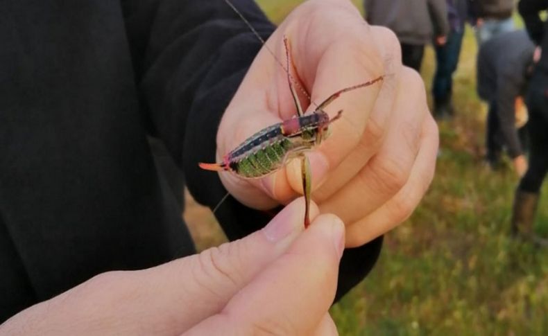
{"label": "upper hand gripping the insect's body, emerging from black sleeve", "polygon": [[[402,67],[391,30],[369,26],[350,1],[307,1],[291,12],[266,42],[282,64],[284,36],[291,44],[293,77],[318,104],[343,87],[385,76],[329,105],[326,112],[333,117],[343,109],[342,118],[330,126],[329,139],[307,154],[312,198],[321,212],[343,219],[347,247],[363,245],[409,217],[434,175],[438,130],[424,83]],[[219,126],[218,159],[248,136],[295,115],[286,73],[262,48]],[[237,200],[256,209],[286,204],[302,193],[298,162],[259,180],[220,176]]]}

